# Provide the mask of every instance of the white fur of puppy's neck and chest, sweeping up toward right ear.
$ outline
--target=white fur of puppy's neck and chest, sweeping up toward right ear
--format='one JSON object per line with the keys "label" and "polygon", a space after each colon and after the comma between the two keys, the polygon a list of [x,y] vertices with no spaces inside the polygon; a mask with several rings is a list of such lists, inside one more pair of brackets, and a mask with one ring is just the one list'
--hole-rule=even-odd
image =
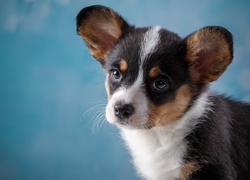
{"label": "white fur of puppy's neck and chest, sweeping up toward right ear", "polygon": [[122,129],[133,162],[142,175],[150,179],[179,178],[187,151],[185,137],[210,111],[209,95],[209,91],[202,93],[182,118],[166,126]]}

